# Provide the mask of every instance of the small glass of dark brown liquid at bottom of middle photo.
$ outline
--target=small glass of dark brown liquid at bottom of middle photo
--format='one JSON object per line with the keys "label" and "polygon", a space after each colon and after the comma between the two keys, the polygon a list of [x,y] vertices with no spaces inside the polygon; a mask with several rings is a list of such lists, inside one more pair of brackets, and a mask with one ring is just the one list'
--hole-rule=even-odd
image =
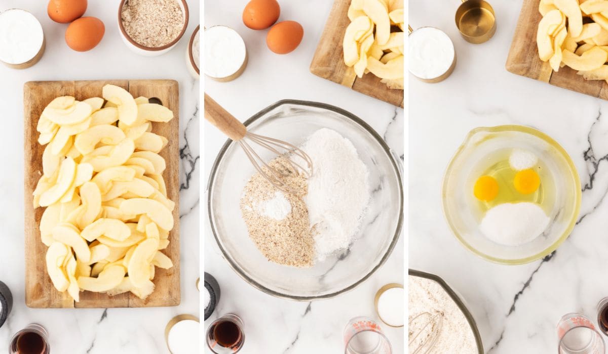
{"label": "small glass of dark brown liquid at bottom of middle photo", "polygon": [[207,329],[207,346],[213,353],[236,353],[244,342],[243,320],[233,313],[216,319]]}

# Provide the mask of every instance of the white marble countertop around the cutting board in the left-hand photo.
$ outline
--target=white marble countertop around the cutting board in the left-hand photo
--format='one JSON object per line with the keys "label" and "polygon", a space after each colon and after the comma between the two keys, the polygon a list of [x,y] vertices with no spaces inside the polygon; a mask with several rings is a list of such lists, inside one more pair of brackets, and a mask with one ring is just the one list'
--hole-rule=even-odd
{"label": "white marble countertop around the cutting board in the left-hand photo", "polygon": [[[0,328],[0,352],[5,352],[10,336],[30,322],[47,328],[53,353],[137,354],[168,353],[164,331],[175,315],[198,315],[199,292],[199,81],[185,66],[187,39],[199,24],[198,1],[188,1],[190,22],[182,41],[173,50],[156,58],[132,53],[123,44],[116,23],[118,0],[89,1],[86,16],[105,23],[102,42],[90,52],[69,49],[64,41],[67,25],[47,16],[47,1],[4,0],[0,12],[13,7],[32,12],[42,23],[46,52],[42,60],[26,70],[0,66],[0,112],[2,141],[0,160],[0,281],[13,292],[13,310]],[[187,36],[187,38],[186,38]],[[30,80],[174,79],[179,83],[181,147],[181,304],[165,308],[32,309],[24,299],[23,225],[23,104],[22,87]]]}

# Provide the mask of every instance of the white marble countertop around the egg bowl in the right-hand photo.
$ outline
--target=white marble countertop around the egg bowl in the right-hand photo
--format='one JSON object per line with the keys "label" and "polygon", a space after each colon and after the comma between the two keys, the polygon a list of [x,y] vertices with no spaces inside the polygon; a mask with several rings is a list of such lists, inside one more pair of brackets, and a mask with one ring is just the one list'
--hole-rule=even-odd
{"label": "white marble countertop around the egg bowl in the right-hand photo", "polygon": [[[409,267],[435,273],[468,303],[489,353],[556,352],[556,324],[580,311],[593,322],[608,296],[608,102],[505,70],[521,0],[491,1],[496,35],[469,44],[454,24],[459,1],[410,1],[410,25],[434,26],[454,41],[446,81],[409,80]],[[441,7],[441,11],[437,8]],[[465,135],[478,126],[524,124],[570,154],[582,183],[578,225],[550,256],[527,265],[483,260],[452,236],[441,211],[441,179]]]}

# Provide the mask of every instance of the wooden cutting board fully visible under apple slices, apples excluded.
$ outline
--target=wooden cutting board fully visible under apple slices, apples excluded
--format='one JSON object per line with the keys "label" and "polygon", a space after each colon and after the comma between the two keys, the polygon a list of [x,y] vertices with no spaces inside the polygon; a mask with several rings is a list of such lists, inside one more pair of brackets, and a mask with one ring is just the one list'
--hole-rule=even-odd
{"label": "wooden cutting board fully visible under apple slices, apples excluded", "polygon": [[[67,293],[55,289],[46,271],[47,247],[40,240],[40,217],[44,208],[34,209],[32,192],[42,175],[44,146],[38,144],[36,124],[44,107],[55,97],[74,96],[77,100],[101,97],[102,87],[114,84],[128,90],[133,97],[157,98],[173,111],[168,123],[153,123],[153,132],[168,139],[160,152],[167,162],[163,173],[167,197],[175,202],[175,226],[169,234],[169,246],[164,253],[173,261],[173,268],[156,268],[154,292],[145,300],[131,293],[108,296],[83,291],[80,302],[72,301]],[[156,307],[176,306],[180,302],[179,288],[179,89],[174,80],[96,80],[96,81],[30,81],[24,94],[24,157],[25,157],[25,241],[26,241],[26,305],[34,308],[81,307]]]}

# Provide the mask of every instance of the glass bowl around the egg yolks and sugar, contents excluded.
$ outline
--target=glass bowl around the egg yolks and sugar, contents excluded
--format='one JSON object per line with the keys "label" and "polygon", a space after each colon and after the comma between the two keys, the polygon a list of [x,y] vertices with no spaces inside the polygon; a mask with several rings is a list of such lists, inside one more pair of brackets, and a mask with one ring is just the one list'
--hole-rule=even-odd
{"label": "glass bowl around the egg yolks and sugar, contents excluded", "polygon": [[[496,163],[492,154],[513,148],[533,152],[545,165],[543,173],[552,184],[545,198],[550,198],[553,206],[547,213],[551,222],[544,233],[523,245],[506,246],[492,242],[479,230],[472,191],[482,171]],[[441,198],[447,223],[466,248],[493,262],[524,264],[547,256],[570,235],[581,206],[581,182],[570,156],[548,135],[517,125],[476,128],[447,166]]]}

